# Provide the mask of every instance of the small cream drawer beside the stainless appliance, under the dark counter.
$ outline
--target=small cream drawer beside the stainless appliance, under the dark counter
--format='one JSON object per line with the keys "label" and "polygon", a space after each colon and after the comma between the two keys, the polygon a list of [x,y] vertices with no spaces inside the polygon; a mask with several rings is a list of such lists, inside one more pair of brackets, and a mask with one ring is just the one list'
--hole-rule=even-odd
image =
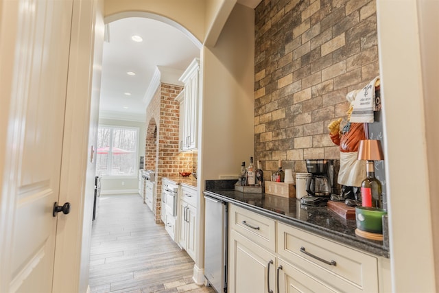
{"label": "small cream drawer beside the stainless appliance, under the dark counter", "polygon": [[230,204],[230,228],[270,250],[276,249],[276,221]]}

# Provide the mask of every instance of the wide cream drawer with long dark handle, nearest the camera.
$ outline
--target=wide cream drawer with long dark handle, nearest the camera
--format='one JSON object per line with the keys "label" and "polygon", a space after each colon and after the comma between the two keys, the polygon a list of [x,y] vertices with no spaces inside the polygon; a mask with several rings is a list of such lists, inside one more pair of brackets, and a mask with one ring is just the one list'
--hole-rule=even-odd
{"label": "wide cream drawer with long dark handle, nearest the camera", "polygon": [[277,237],[279,255],[336,291],[378,292],[376,257],[283,223]]}

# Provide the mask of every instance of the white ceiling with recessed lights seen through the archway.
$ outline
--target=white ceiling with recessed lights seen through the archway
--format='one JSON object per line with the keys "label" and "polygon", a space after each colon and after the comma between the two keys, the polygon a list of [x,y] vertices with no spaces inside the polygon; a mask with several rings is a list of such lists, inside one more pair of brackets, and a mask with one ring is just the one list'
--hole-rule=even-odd
{"label": "white ceiling with recessed lights seen through the archway", "polygon": [[[255,8],[261,0],[238,0]],[[137,34],[143,42],[136,43]],[[102,57],[102,84],[99,117],[144,121],[150,86],[156,70],[184,71],[200,49],[189,38],[167,23],[142,17],[130,17],[106,25]],[[136,73],[127,75],[128,71]],[[163,79],[163,74],[162,77]],[[162,80],[163,81],[163,80]],[[153,82],[154,84],[154,82]],[[130,93],[130,95],[125,95]]]}

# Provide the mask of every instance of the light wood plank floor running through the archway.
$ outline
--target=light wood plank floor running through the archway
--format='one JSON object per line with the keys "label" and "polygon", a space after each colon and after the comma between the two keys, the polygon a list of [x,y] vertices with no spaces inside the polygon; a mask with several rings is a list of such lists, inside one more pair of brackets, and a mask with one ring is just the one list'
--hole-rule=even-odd
{"label": "light wood plank floor running through the archway", "polygon": [[193,283],[193,260],[155,224],[137,194],[101,196],[93,222],[91,292],[214,292]]}

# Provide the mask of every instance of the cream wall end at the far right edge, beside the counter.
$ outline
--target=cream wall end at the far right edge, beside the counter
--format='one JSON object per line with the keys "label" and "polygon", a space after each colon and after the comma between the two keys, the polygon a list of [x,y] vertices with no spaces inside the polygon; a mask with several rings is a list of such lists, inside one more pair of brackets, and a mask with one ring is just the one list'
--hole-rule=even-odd
{"label": "cream wall end at the far right edge, beside the counter", "polygon": [[[422,1],[420,1],[422,2]],[[427,2],[427,1],[425,1]],[[434,4],[433,2],[436,2]],[[416,1],[377,1],[377,27],[379,42],[379,60],[381,92],[383,101],[383,125],[387,148],[385,150],[385,176],[388,178],[387,194],[389,202],[390,261],[394,292],[435,292],[434,241],[432,233],[431,196],[437,194],[438,170],[429,170],[429,161],[438,160],[437,154],[427,154],[427,148],[436,145],[438,130],[427,124],[437,122],[437,96],[428,89],[437,89],[436,76],[431,78],[425,73],[434,72],[432,68],[422,70],[422,58],[426,62],[437,63],[436,51],[427,53],[427,41],[421,42],[421,36],[436,36],[438,5],[431,1],[432,13],[436,18],[418,19]],[[427,6],[424,5],[424,8]],[[419,25],[420,23],[420,25]],[[420,51],[420,47],[423,51]],[[425,55],[427,53],[427,55]],[[436,58],[429,60],[428,54]],[[436,69],[437,70],[437,67]],[[427,91],[426,91],[427,90]],[[427,95],[430,94],[430,96]],[[436,91],[437,93],[437,91]],[[436,99],[436,102],[431,102]],[[432,108],[425,115],[425,104]],[[436,114],[434,114],[436,113]],[[436,119],[436,120],[435,120]],[[436,141],[427,140],[426,134],[432,134]],[[437,200],[436,200],[437,203]],[[435,216],[437,218],[437,215]],[[436,250],[437,250],[436,246]]]}

